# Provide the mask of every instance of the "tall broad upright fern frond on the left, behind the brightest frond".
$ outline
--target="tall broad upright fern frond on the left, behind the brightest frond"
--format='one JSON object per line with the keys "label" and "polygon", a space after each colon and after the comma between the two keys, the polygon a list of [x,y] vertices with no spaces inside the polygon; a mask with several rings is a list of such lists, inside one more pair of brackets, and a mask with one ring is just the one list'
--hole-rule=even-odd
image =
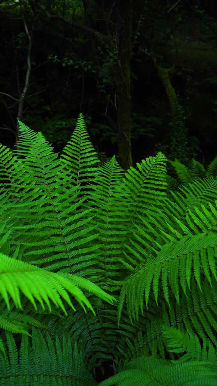
{"label": "tall broad upright fern frond on the left, behind the brightest frond", "polygon": [[9,207],[0,208],[5,225],[11,229],[11,251],[20,245],[20,256],[26,261],[47,270],[88,276],[88,269],[97,262],[94,258],[99,254],[99,244],[92,243],[97,237],[97,225],[88,226],[92,216],[85,216],[90,209],[77,211],[85,200],[78,200],[80,183],[72,183],[73,176],[66,173],[65,164],[59,164],[41,133],[32,134],[21,122],[20,133],[19,146],[24,152],[14,177],[19,179],[21,173],[25,174],[25,186],[23,183],[18,204],[12,201]]}

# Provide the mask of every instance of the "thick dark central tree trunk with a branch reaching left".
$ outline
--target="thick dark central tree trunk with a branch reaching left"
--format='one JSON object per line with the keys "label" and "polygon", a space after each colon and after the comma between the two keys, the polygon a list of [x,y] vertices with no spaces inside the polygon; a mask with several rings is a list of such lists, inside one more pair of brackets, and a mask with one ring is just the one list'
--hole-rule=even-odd
{"label": "thick dark central tree trunk with a branch reaching left", "polygon": [[[132,155],[131,155],[131,76],[130,76],[130,62],[131,62],[131,51],[132,51],[132,15],[134,12],[134,4],[136,0],[117,0],[110,7],[110,2],[103,1],[102,7],[98,4],[98,8],[102,9],[109,8],[110,12],[108,20],[113,17],[112,25],[115,26],[114,37],[116,39],[116,46],[118,51],[117,59],[117,75],[116,75],[116,99],[117,99],[117,124],[119,129],[118,139],[118,152],[119,152],[119,163],[127,170],[129,166],[132,166]],[[84,2],[86,3],[86,2]],[[101,3],[101,2],[100,2]],[[104,43],[110,43],[112,41],[110,36],[105,36],[100,32],[88,27],[76,23],[75,21],[68,20],[59,15],[52,15],[44,7],[44,5],[37,3],[37,6],[43,10],[49,19],[61,20],[71,27],[78,28],[91,34],[94,38],[100,39]],[[123,18],[123,20],[122,20]],[[108,24],[108,20],[105,21]],[[120,21],[121,20],[121,21]],[[122,31],[122,33],[118,33]],[[120,42],[120,44],[119,44]]]}

